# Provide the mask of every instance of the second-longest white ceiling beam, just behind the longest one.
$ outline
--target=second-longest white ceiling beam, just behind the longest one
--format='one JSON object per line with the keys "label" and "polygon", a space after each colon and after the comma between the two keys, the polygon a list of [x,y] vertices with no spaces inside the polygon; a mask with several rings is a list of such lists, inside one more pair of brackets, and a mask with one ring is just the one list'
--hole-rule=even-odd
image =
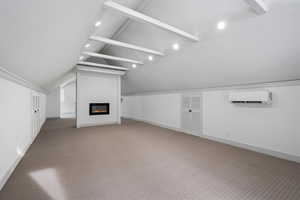
{"label": "second-longest white ceiling beam, just behind the longest one", "polygon": [[125,43],[125,42],[119,42],[119,41],[116,41],[116,40],[111,40],[111,39],[100,37],[100,36],[91,36],[89,39],[90,40],[95,40],[95,41],[98,41],[98,42],[104,42],[106,44],[110,44],[110,45],[114,45],[114,46],[119,46],[119,47],[124,47],[124,48],[128,48],[128,49],[133,49],[133,50],[136,50],[136,51],[150,53],[150,54],[154,54],[154,55],[158,55],[158,56],[163,56],[164,55],[163,53],[161,53],[159,51],[155,51],[155,50],[152,50],[152,49],[147,49],[147,48],[136,46],[136,45],[133,45],[133,44],[128,44],[128,43]]}

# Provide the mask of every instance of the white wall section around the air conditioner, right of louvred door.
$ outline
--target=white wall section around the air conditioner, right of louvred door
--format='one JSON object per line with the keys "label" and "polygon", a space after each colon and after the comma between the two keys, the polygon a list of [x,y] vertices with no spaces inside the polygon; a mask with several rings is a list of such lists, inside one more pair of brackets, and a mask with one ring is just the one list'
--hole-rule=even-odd
{"label": "white wall section around the air conditioner, right of louvred door", "polygon": [[272,105],[237,105],[228,102],[230,91],[204,92],[203,133],[300,156],[300,86],[265,89]]}

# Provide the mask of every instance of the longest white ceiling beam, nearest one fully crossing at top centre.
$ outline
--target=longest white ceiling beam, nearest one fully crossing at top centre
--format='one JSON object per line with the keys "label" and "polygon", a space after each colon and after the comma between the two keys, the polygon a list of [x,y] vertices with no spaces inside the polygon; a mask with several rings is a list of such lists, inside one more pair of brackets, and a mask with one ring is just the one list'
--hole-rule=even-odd
{"label": "longest white ceiling beam, nearest one fully crossing at top centre", "polygon": [[199,38],[190,34],[190,33],[187,33],[183,30],[180,30],[179,28],[176,28],[174,26],[171,26],[169,24],[166,24],[164,22],[161,22],[160,20],[158,19],[155,19],[155,18],[152,18],[152,17],[149,17],[143,13],[140,13],[140,12],[137,12],[133,9],[130,9],[130,8],[127,8],[121,4],[118,4],[118,3],[115,3],[113,1],[106,1],[104,2],[104,5],[106,7],[109,7],[109,8],[112,8],[114,10],[117,10],[119,12],[121,12],[122,14],[125,14],[126,16],[130,17],[130,18],[133,18],[133,19],[137,19],[139,21],[143,21],[143,22],[146,22],[148,24],[152,24],[154,26],[157,26],[161,29],[164,29],[164,30],[167,30],[167,31],[170,31],[172,33],[175,33],[179,36],[182,36],[182,37],[185,37],[187,39],[190,39],[192,41],[196,41],[198,42],[199,41]]}

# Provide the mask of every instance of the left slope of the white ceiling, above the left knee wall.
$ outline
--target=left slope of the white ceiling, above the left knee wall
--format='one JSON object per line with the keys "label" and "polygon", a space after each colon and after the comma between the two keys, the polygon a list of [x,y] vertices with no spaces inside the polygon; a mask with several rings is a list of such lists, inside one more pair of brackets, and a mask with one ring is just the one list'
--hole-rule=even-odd
{"label": "left slope of the white ceiling, above the left knee wall", "polygon": [[[126,20],[103,8],[104,0],[2,0],[0,66],[46,87],[71,70],[94,23],[111,37]],[[135,8],[140,0],[116,0]],[[91,49],[101,48],[101,44]]]}

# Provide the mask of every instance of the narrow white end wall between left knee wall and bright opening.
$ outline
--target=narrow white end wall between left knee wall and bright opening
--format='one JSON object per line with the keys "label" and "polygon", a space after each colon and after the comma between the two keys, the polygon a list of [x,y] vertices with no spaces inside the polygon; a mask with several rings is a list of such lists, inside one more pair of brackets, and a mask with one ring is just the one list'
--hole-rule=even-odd
{"label": "narrow white end wall between left knee wall and bright opening", "polygon": [[59,87],[47,94],[47,106],[46,106],[47,118],[59,118],[60,117],[60,90]]}

